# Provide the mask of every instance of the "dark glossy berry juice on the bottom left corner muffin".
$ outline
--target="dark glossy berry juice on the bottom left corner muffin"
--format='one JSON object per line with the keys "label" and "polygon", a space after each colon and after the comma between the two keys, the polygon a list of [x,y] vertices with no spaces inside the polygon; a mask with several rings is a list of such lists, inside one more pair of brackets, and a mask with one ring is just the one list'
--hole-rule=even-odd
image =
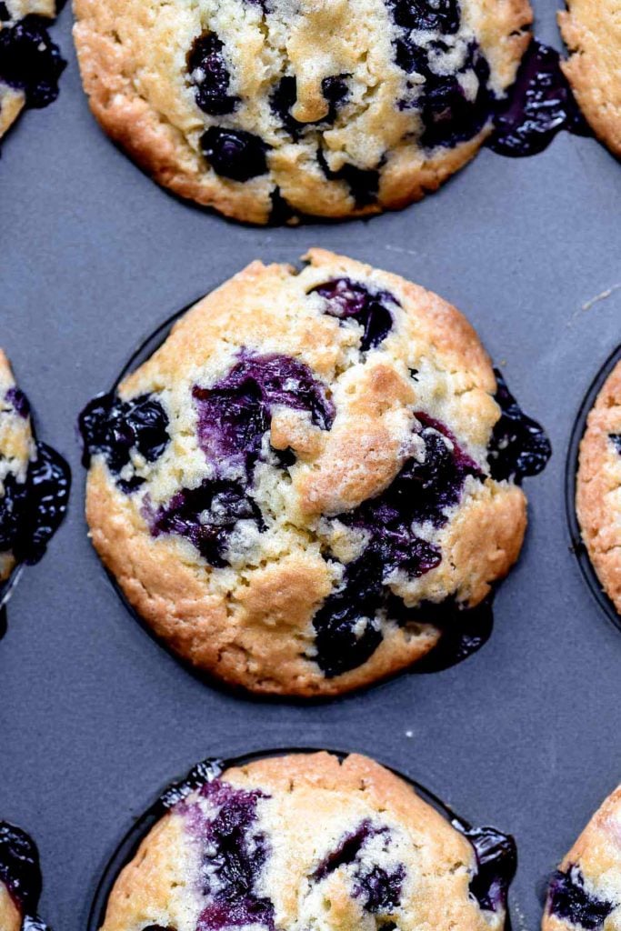
{"label": "dark glossy berry juice on the bottom left corner muffin", "polygon": [[22,914],[21,931],[52,931],[36,915],[42,885],[36,845],[7,821],[0,821],[0,881]]}

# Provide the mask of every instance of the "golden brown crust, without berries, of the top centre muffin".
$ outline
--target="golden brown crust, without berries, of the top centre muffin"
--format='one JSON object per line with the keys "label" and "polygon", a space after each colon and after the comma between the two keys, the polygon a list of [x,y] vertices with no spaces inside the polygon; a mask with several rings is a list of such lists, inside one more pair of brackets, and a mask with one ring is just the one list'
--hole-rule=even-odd
{"label": "golden brown crust, without berries, of the top centre muffin", "polygon": [[[289,7],[273,6],[278,25],[268,27],[255,22],[247,9],[240,11],[233,0],[230,7],[196,6],[192,13],[183,9],[176,22],[158,15],[150,0],[74,0],[74,39],[91,110],[156,182],[250,223],[269,220],[275,191],[295,211],[362,216],[420,199],[476,154],[490,124],[453,147],[425,151],[412,143],[420,135],[419,117],[398,106],[407,75],[395,64],[394,27],[381,0],[304,2],[292,18]],[[492,65],[493,91],[502,94],[530,40],[531,7],[527,0],[465,0],[462,7],[468,34],[478,36]],[[234,79],[246,101],[241,115],[207,117],[188,90],[185,54],[208,23],[227,39]],[[159,57],[152,49],[160,49]],[[269,97],[279,79],[278,56],[290,61],[297,75],[295,112],[304,121],[325,115],[317,74],[349,74],[359,81],[364,89],[349,122],[317,130],[308,144],[288,140],[269,114]],[[269,173],[236,182],[210,169],[199,137],[205,128],[220,124],[264,136],[270,146]],[[326,177],[316,158],[324,136],[325,151],[336,155],[332,171],[340,168],[343,154],[361,170],[381,166],[376,201],[357,204],[344,181]]]}

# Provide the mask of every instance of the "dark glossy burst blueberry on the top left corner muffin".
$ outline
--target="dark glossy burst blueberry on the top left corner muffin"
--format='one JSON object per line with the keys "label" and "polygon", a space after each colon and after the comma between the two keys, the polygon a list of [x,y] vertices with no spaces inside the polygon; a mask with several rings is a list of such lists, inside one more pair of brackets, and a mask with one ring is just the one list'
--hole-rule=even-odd
{"label": "dark glossy burst blueberry on the top left corner muffin", "polygon": [[0,81],[22,90],[29,107],[46,107],[59,94],[67,62],[47,34],[47,20],[31,14],[0,30]]}

